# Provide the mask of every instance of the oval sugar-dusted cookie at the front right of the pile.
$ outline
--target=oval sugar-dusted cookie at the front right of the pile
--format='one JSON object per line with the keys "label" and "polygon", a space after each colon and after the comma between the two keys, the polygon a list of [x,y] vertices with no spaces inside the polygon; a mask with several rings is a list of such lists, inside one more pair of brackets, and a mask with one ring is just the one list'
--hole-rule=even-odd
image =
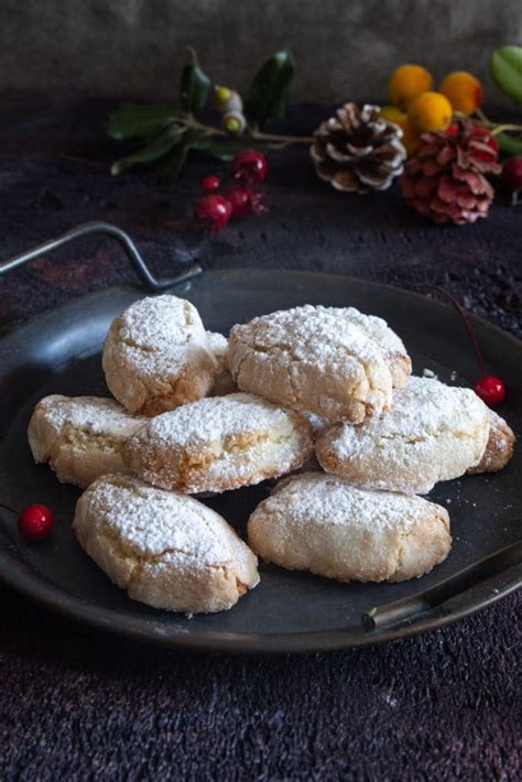
{"label": "oval sugar-dusted cookie at the front right of the pile", "polygon": [[250,517],[248,539],[267,562],[340,582],[415,578],[452,546],[444,508],[319,473],[276,486]]}

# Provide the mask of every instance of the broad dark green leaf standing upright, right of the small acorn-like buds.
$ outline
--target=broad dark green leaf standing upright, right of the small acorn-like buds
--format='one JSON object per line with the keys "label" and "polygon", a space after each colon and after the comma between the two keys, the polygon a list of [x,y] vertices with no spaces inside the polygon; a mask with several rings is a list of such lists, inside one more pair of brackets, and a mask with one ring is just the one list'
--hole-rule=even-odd
{"label": "broad dark green leaf standing upright, right of the small acorn-like buds", "polygon": [[294,70],[294,58],[289,51],[278,52],[270,57],[255,74],[244,97],[247,115],[260,124],[282,119]]}

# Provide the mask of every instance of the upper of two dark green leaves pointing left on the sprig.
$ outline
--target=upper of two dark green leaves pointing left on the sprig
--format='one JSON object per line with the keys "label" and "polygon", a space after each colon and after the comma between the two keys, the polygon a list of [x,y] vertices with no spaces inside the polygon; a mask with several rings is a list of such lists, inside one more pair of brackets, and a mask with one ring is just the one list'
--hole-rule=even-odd
{"label": "upper of two dark green leaves pointing left on the sprig", "polygon": [[121,104],[107,121],[107,133],[117,141],[154,135],[168,126],[180,106],[168,104]]}

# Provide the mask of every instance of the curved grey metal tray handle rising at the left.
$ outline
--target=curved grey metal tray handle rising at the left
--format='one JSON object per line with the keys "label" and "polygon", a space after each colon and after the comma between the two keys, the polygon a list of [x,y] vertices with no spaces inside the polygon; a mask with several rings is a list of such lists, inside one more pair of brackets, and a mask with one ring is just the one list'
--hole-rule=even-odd
{"label": "curved grey metal tray handle rising at the left", "polygon": [[157,280],[157,278],[155,278],[150,271],[140,251],[127,231],[122,228],[118,228],[118,226],[115,226],[111,222],[84,222],[75,228],[72,228],[65,233],[62,233],[55,239],[50,239],[43,245],[37,245],[36,247],[33,247],[19,256],[12,256],[0,264],[0,278],[4,274],[9,274],[9,272],[14,271],[19,267],[23,267],[24,263],[29,263],[35,258],[40,258],[41,256],[45,256],[48,252],[57,250],[59,247],[67,245],[69,241],[81,239],[86,236],[95,233],[108,236],[120,245],[127,258],[132,263],[141,282],[150,291],[164,291],[167,287],[172,287],[173,285],[177,285],[181,282],[185,282],[186,280],[197,276],[203,271],[199,263],[193,262],[187,264],[184,271],[176,274],[176,276],[173,276],[170,280]]}

